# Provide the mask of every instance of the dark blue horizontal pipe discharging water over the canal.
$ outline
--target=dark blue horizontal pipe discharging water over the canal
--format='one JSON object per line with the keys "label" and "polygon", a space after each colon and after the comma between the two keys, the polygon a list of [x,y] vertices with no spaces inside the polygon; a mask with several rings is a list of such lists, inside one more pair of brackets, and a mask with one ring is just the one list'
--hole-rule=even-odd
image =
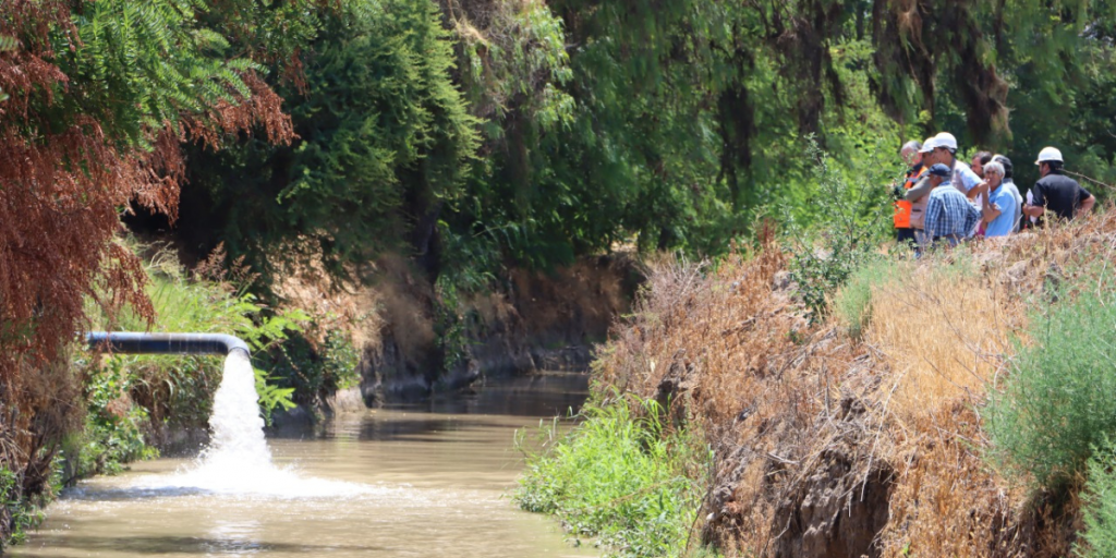
{"label": "dark blue horizontal pipe discharging water over the canal", "polygon": [[89,348],[132,355],[228,355],[243,350],[248,344],[240,337],[224,334],[137,334],[129,331],[92,331],[85,335]]}

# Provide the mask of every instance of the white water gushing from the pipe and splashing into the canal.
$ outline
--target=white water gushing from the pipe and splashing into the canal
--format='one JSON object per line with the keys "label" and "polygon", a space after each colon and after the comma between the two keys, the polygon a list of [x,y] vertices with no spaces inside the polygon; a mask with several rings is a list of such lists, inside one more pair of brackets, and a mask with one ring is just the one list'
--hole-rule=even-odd
{"label": "white water gushing from the pipe and splashing into the canal", "polygon": [[141,490],[279,498],[327,498],[376,492],[375,487],[302,478],[290,468],[278,468],[263,437],[252,364],[241,350],[224,359],[224,376],[213,397],[210,446],[198,461],[170,475],[141,478]]}

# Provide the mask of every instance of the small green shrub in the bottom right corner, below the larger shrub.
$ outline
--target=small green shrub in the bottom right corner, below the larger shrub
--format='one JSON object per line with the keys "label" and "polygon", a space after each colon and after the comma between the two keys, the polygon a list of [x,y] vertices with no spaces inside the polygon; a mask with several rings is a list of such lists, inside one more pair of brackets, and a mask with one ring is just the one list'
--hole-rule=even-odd
{"label": "small green shrub in the bottom right corner, below the larger shrub", "polygon": [[1076,552],[1084,558],[1116,556],[1116,445],[1101,444],[1088,462],[1083,519],[1085,530]]}

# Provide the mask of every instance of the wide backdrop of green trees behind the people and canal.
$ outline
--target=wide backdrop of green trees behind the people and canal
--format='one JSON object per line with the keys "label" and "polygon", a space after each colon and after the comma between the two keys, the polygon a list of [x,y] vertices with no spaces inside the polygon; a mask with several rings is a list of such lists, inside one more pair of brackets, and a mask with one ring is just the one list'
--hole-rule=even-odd
{"label": "wide backdrop of green trees behind the people and canal", "polygon": [[477,283],[616,242],[715,254],[764,215],[824,221],[809,137],[865,191],[897,174],[904,141],[943,129],[962,153],[1007,153],[1024,189],[1048,144],[1104,181],[1113,10],[348,2],[315,12],[305,87],[283,89],[301,141],[198,153],[195,205],[235,253],[394,247]]}

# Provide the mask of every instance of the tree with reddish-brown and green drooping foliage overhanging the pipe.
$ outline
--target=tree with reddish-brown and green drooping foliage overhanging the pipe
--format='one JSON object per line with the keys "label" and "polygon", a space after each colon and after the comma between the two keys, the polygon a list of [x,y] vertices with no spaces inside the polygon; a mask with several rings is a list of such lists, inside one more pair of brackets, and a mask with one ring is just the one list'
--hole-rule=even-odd
{"label": "tree with reddish-brown and green drooping foliage overhanging the pipe", "polygon": [[292,136],[262,67],[201,22],[228,6],[6,0],[0,10],[0,36],[16,44],[0,49],[10,95],[0,104],[0,404],[20,411],[4,413],[18,417],[8,427],[33,434],[16,440],[19,452],[2,444],[0,462],[27,491],[50,473],[67,408],[31,387],[50,382],[42,376],[84,328],[86,297],[154,317],[138,259],[113,241],[121,211],[175,217],[182,142]]}

